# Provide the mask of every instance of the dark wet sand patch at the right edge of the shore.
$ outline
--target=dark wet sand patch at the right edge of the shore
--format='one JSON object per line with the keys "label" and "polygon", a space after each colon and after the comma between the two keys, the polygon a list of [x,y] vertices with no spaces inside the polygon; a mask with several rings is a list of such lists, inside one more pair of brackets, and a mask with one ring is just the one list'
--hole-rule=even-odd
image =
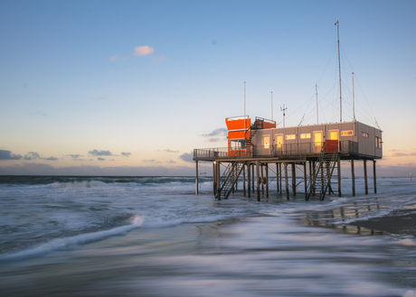
{"label": "dark wet sand patch at the right edge of the shore", "polygon": [[389,216],[357,220],[349,225],[416,237],[416,213],[414,210],[397,210]]}

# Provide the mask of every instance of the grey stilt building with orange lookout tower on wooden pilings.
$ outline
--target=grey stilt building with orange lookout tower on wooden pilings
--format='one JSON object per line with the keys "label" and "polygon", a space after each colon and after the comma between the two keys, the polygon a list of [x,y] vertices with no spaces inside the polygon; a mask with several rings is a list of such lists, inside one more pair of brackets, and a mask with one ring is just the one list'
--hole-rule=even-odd
{"label": "grey stilt building with orange lookout tower on wooden pilings", "polygon": [[[213,195],[217,200],[227,199],[241,182],[244,195],[251,197],[257,193],[260,200],[260,192],[264,194],[266,190],[269,196],[270,166],[276,168],[278,192],[283,191],[284,181],[288,199],[289,188],[296,196],[303,183],[306,200],[324,200],[326,194],[342,195],[342,160],[351,162],[353,196],[355,162],[364,162],[365,194],[368,194],[367,161],[373,162],[373,187],[374,193],[377,192],[375,162],[383,157],[380,129],[357,121],[277,128],[276,122],[260,117],[251,123],[249,116],[229,117],[225,123],[228,147],[194,149],[196,194],[198,162],[212,162]],[[296,168],[303,172],[298,179]]]}

